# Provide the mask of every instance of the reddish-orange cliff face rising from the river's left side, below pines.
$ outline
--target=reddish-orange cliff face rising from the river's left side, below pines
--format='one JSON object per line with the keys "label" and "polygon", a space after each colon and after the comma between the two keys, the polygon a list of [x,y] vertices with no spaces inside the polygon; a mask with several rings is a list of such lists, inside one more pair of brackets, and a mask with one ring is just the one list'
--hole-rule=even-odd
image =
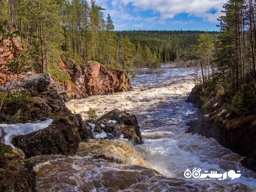
{"label": "reddish-orange cliff face rising from the river's left side, below pines", "polygon": [[131,79],[126,77],[122,70],[107,71],[98,62],[88,62],[84,66],[79,66],[64,58],[62,58],[61,65],[64,70],[72,71],[71,81],[75,85],[71,89],[70,84],[64,84],[67,90],[66,100],[132,90]]}

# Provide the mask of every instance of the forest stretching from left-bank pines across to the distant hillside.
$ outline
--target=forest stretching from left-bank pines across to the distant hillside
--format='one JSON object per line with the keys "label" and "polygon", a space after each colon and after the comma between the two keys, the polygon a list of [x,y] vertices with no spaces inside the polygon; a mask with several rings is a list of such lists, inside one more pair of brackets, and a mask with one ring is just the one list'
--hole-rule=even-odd
{"label": "forest stretching from left-bank pines across to the distant hillside", "polygon": [[[190,45],[203,31],[115,31],[111,16],[94,0],[1,0],[2,36],[19,36],[20,55],[38,72],[64,76],[61,58],[76,63],[97,61],[106,68],[156,69],[162,63],[186,59]],[[7,35],[7,33],[9,33]],[[209,32],[215,40],[219,32]],[[9,62],[11,63],[11,61]],[[17,70],[15,71],[17,73]],[[68,77],[67,77],[68,78]]]}

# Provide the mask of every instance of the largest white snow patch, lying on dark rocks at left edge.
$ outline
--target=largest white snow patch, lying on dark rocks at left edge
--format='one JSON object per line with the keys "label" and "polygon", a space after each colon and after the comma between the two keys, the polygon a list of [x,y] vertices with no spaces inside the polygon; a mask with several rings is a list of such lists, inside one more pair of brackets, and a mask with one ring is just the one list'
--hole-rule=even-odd
{"label": "largest white snow patch, lying on dark rocks at left edge", "polygon": [[28,135],[30,133],[47,128],[52,124],[53,119],[46,119],[45,121],[35,121],[33,123],[25,124],[0,124],[0,136],[4,138],[4,143],[10,145],[13,149],[16,147],[12,145],[11,141],[14,137]]}

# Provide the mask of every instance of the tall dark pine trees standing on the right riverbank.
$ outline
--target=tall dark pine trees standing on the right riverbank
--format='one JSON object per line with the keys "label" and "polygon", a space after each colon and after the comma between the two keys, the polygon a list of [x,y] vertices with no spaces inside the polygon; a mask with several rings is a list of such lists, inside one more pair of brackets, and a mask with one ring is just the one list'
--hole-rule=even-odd
{"label": "tall dark pine trees standing on the right riverbank", "polygon": [[255,6],[252,0],[228,0],[215,44],[205,33],[191,50],[201,66],[205,92],[217,89],[219,104],[235,116],[256,111]]}

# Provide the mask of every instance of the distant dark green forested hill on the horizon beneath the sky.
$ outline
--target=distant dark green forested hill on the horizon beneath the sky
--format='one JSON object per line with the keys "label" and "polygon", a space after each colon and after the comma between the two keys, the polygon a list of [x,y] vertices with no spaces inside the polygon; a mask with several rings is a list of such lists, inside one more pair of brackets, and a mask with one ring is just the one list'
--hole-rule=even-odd
{"label": "distant dark green forested hill on the horizon beneath the sky", "polygon": [[[159,62],[167,63],[187,59],[190,46],[196,43],[200,34],[204,31],[156,31],[156,30],[139,30],[139,31],[117,31],[117,36],[128,36],[130,41],[143,51],[151,51]],[[216,40],[220,32],[209,32],[211,38]]]}

